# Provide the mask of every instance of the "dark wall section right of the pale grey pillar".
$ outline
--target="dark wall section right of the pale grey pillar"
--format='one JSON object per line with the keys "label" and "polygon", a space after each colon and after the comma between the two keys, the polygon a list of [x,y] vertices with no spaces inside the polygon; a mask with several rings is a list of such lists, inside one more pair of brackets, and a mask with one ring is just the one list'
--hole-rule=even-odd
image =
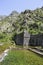
{"label": "dark wall section right of the pale grey pillar", "polygon": [[29,43],[32,46],[42,46],[43,45],[43,34],[31,35]]}

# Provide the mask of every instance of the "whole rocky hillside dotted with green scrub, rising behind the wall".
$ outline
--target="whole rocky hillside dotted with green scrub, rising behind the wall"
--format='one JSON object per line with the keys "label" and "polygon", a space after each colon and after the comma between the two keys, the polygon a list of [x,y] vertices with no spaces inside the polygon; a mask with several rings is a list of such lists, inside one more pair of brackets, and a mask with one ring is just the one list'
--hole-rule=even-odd
{"label": "whole rocky hillside dotted with green scrub, rising behind the wall", "polygon": [[13,11],[9,16],[0,17],[0,34],[12,36],[24,30],[32,35],[43,33],[43,7],[21,13]]}

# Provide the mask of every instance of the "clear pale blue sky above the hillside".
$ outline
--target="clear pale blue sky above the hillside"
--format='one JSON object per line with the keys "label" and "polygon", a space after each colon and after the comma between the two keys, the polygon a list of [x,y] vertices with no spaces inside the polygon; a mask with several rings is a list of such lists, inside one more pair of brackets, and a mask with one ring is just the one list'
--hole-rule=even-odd
{"label": "clear pale blue sky above the hillside", "polygon": [[0,15],[9,15],[12,11],[34,10],[43,6],[43,0],[0,0]]}

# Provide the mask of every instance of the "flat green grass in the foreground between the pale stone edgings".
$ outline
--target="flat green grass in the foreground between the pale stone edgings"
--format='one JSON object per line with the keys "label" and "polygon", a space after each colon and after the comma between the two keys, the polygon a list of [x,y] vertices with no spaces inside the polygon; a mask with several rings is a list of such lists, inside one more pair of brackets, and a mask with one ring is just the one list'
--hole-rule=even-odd
{"label": "flat green grass in the foreground between the pale stone edgings", "polygon": [[43,58],[29,50],[12,50],[0,65],[43,65]]}

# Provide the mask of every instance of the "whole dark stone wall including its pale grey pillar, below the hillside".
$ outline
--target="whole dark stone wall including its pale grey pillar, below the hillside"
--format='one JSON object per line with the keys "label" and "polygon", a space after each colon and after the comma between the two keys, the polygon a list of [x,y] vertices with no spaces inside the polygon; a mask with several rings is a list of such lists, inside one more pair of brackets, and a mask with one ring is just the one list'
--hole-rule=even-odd
{"label": "whole dark stone wall including its pale grey pillar, below the hillside", "polygon": [[30,35],[27,32],[15,36],[16,45],[43,46],[43,34]]}

